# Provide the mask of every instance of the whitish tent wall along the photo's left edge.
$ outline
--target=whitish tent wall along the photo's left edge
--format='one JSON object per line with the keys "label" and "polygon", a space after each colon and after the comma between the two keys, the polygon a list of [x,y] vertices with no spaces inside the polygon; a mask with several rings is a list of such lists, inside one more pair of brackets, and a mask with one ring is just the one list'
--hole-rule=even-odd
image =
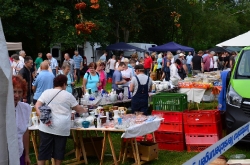
{"label": "whitish tent wall along the photo's left edge", "polygon": [[0,165],[19,165],[12,73],[0,19]]}

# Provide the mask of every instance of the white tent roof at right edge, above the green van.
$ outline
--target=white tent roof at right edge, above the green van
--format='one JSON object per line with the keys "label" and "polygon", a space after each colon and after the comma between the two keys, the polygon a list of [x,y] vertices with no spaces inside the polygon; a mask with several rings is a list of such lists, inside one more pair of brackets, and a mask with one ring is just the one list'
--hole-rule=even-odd
{"label": "white tent roof at right edge, above the green van", "polygon": [[217,44],[216,46],[250,46],[250,31],[238,35],[234,38],[231,38],[229,40],[226,40],[222,43]]}

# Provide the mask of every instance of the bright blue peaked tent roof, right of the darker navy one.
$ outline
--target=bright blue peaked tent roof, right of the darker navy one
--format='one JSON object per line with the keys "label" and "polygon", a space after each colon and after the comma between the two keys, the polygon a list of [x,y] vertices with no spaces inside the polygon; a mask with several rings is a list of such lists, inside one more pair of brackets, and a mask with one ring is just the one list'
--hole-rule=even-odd
{"label": "bright blue peaked tent roof, right of the darker navy one", "polygon": [[194,51],[194,48],[183,46],[175,42],[169,42],[164,45],[149,48],[150,51]]}

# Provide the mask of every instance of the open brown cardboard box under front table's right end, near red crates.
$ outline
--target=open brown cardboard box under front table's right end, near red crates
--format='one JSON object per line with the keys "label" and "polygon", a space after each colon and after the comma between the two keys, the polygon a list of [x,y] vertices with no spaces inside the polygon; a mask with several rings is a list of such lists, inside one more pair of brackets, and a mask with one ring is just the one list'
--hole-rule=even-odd
{"label": "open brown cardboard box under front table's right end, near red crates", "polygon": [[[140,159],[144,161],[151,161],[158,158],[158,144],[153,142],[138,143],[138,150]],[[127,150],[127,157],[133,158],[132,148]]]}

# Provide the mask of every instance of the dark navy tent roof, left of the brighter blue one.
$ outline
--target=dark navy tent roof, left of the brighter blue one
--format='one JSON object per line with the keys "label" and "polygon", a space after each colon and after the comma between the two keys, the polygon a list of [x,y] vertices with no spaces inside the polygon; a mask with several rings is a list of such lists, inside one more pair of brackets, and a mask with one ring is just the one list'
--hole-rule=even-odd
{"label": "dark navy tent roof, left of the brighter blue one", "polygon": [[107,46],[106,48],[99,47],[96,48],[96,50],[117,50],[117,51],[139,51],[139,52],[145,52],[146,50],[138,48],[136,46],[129,45],[125,42],[119,42],[116,44],[111,44]]}

